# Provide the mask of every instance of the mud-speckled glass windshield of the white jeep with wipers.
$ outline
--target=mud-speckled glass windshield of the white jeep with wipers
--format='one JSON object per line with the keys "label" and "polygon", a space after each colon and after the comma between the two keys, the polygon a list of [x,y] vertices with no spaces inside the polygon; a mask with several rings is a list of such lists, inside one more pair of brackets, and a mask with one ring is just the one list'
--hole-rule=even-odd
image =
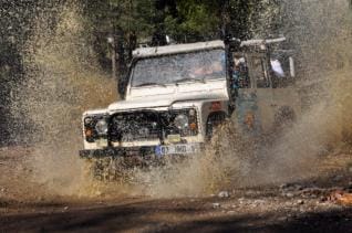
{"label": "mud-speckled glass windshield of the white jeep with wipers", "polygon": [[216,49],[138,60],[134,64],[132,86],[206,83],[225,78],[225,51]]}

